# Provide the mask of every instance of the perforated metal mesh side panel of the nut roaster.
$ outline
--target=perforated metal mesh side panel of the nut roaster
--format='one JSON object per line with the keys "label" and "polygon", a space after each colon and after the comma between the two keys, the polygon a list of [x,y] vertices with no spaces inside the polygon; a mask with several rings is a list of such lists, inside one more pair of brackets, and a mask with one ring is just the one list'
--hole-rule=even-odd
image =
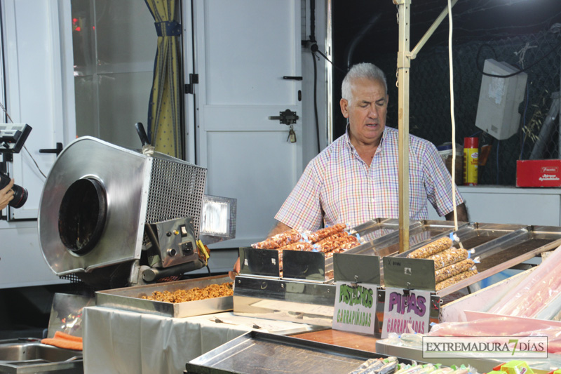
{"label": "perforated metal mesh side panel of the nut roaster", "polygon": [[205,180],[205,168],[155,153],[152,159],[146,222],[191,217],[198,237]]}

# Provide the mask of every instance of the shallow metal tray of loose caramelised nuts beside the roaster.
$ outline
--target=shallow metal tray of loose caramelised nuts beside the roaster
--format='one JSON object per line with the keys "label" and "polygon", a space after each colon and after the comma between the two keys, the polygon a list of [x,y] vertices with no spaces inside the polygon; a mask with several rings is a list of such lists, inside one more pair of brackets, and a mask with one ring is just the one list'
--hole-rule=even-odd
{"label": "shallow metal tray of loose caramelised nuts beside the roaster", "polygon": [[190,279],[187,281],[173,281],[168,283],[158,283],[146,286],[133,286],[126,288],[116,288],[113,290],[97,291],[95,302],[98,307],[110,307],[128,310],[130,312],[140,312],[156,314],[159,316],[170,317],[189,317],[200,316],[218,312],[228,312],[234,309],[232,296],[222,298],[212,298],[207,300],[196,300],[188,302],[161,302],[142,299],[142,296],[149,296],[154,291],[168,290],[189,290],[191,288],[203,288],[210,284],[222,284],[231,282],[229,276],[209,276],[200,279]]}

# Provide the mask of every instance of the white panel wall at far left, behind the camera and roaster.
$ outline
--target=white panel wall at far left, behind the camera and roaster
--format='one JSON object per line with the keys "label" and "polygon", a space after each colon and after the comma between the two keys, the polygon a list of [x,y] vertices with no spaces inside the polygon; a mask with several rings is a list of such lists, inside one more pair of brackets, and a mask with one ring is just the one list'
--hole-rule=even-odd
{"label": "white panel wall at far left, behind the camera and roaster", "polygon": [[[75,136],[72,67],[63,73],[68,60],[62,53],[65,45],[72,46],[71,23],[68,30],[59,29],[60,18],[69,19],[69,1],[3,0],[0,4],[6,107],[15,123],[32,126],[25,146],[47,174],[55,155],[41,154],[39,149],[66,144]],[[16,184],[29,190],[27,203],[13,210],[13,216],[30,220],[0,221],[0,288],[60,283],[39,248],[35,219],[44,178],[25,151],[15,155],[12,173]]]}

